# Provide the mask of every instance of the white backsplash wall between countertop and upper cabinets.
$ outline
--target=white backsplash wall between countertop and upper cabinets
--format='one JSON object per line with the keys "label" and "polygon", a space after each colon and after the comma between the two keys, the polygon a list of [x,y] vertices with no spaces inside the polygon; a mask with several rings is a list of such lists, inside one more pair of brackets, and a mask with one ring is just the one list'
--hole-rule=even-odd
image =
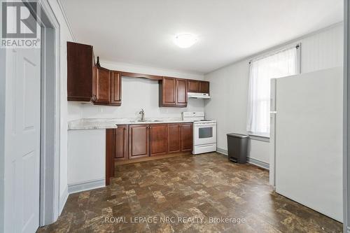
{"label": "white backsplash wall between countertop and upper cabinets", "polygon": [[69,120],[79,118],[137,118],[144,108],[146,118],[181,118],[183,111],[204,111],[203,99],[188,99],[186,108],[160,108],[156,80],[123,77],[122,106],[97,106],[68,102]]}

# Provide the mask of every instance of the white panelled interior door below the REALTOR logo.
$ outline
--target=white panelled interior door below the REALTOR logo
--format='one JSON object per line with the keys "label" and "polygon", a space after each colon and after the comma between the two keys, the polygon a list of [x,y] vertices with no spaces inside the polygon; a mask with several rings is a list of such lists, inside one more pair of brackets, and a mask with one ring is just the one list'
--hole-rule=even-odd
{"label": "white panelled interior door below the REALTOR logo", "polygon": [[11,232],[39,225],[40,49],[8,50],[6,108],[6,224]]}

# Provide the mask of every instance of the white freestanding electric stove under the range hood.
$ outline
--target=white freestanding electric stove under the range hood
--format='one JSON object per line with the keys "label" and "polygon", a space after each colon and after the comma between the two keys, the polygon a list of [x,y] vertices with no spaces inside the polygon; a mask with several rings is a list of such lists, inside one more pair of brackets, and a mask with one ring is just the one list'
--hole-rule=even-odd
{"label": "white freestanding electric stove under the range hood", "polygon": [[193,121],[193,154],[216,151],[216,120],[205,120],[204,112],[183,112],[183,120]]}

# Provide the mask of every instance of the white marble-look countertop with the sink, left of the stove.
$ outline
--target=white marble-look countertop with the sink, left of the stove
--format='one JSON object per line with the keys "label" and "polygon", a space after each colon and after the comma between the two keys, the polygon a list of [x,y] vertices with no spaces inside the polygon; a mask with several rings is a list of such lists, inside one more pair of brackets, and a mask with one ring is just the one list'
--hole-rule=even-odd
{"label": "white marble-look countertop with the sink, left of the stove", "polygon": [[181,118],[146,118],[140,122],[135,118],[83,118],[68,122],[68,130],[73,129],[116,129],[118,125],[138,125],[138,124],[167,124],[193,122],[182,120]]}

